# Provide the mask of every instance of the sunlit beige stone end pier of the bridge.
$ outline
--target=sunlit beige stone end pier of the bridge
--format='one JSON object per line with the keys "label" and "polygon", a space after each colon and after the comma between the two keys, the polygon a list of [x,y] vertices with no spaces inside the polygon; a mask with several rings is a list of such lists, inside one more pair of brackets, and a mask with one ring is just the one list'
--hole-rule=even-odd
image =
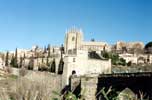
{"label": "sunlit beige stone end pier of the bridge", "polygon": [[97,82],[97,76],[72,76],[70,84],[71,90],[74,90],[80,85],[82,99],[96,100]]}

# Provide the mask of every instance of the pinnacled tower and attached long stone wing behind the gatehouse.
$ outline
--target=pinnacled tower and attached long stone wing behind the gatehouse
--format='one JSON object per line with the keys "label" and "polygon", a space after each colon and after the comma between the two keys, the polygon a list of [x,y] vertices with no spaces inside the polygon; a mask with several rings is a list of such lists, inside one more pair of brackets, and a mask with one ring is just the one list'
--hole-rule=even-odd
{"label": "pinnacled tower and attached long stone wing behind the gatehouse", "polygon": [[110,51],[110,47],[106,42],[84,41],[82,30],[76,28],[72,28],[66,32],[64,46],[66,53],[71,53],[75,50],[99,51],[99,52],[102,50]]}

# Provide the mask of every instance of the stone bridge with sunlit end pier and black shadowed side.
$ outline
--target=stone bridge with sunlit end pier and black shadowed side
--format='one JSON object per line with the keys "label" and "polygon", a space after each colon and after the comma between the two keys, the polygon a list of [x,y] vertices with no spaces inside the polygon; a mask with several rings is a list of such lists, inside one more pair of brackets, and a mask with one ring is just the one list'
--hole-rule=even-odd
{"label": "stone bridge with sunlit end pier and black shadowed side", "polygon": [[72,76],[71,78],[71,89],[76,94],[83,93],[86,100],[104,100],[99,91],[103,88],[107,91],[110,87],[117,92],[129,88],[137,97],[140,96],[141,91],[145,94],[145,98],[152,100],[152,72]]}

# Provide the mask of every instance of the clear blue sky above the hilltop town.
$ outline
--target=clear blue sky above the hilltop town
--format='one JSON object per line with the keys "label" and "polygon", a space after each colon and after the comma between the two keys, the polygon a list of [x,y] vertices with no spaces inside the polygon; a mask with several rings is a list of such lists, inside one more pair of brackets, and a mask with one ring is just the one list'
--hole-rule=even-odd
{"label": "clear blue sky above the hilltop town", "polygon": [[60,45],[66,29],[85,40],[152,40],[152,0],[0,0],[0,51]]}

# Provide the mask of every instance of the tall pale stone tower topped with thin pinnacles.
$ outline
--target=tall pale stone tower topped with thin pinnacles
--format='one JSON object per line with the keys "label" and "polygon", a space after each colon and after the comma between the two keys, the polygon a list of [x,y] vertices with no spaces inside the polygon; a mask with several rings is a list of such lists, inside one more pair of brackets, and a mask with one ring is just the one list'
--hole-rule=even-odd
{"label": "tall pale stone tower topped with thin pinnacles", "polygon": [[66,53],[76,53],[78,49],[81,48],[83,41],[83,33],[80,29],[71,28],[66,32],[65,37],[65,52]]}

